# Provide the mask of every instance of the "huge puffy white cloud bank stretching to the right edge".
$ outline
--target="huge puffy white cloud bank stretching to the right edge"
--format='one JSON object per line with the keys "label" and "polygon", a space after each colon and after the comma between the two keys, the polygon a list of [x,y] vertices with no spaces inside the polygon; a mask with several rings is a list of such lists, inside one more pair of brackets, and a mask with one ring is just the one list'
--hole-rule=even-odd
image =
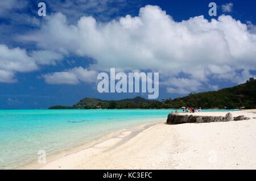
{"label": "huge puffy white cloud bank stretching to the right edge", "polygon": [[[189,82],[204,83],[209,77],[239,82],[241,71],[255,70],[256,34],[250,26],[254,25],[228,15],[176,22],[160,7],[148,5],[138,16],[109,22],[82,16],[70,24],[65,15],[53,14],[40,30],[19,40],[36,43],[39,49],[93,58],[96,64],[89,70],[152,70],[162,80],[185,74],[179,78],[189,77]],[[193,90],[197,91],[193,87],[182,91]]]}

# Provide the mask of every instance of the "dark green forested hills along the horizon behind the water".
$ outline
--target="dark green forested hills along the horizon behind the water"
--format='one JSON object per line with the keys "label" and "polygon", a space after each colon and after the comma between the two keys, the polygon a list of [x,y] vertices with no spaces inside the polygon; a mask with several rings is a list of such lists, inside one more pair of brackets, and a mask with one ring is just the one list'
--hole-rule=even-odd
{"label": "dark green forested hills along the horizon behind the water", "polygon": [[201,107],[204,109],[253,109],[256,108],[256,79],[250,78],[238,86],[218,91],[189,94],[182,98],[148,100],[140,96],[134,99],[101,100],[84,98],[73,106],[52,106],[49,109],[168,109]]}

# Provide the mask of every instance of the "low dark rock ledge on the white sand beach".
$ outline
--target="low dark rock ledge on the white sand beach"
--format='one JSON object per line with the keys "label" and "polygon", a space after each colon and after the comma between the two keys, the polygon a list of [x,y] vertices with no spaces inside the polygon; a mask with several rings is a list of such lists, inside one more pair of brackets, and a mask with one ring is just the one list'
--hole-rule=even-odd
{"label": "low dark rock ledge on the white sand beach", "polygon": [[223,116],[194,116],[194,115],[179,115],[170,113],[167,118],[167,124],[183,124],[183,123],[211,123],[211,122],[228,122],[249,120],[249,117],[237,116],[233,117],[232,113],[228,112]]}

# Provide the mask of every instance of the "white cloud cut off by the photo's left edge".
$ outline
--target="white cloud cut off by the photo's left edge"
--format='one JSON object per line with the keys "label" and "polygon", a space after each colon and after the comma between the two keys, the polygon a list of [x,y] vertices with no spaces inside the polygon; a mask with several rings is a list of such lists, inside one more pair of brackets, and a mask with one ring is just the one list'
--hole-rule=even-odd
{"label": "white cloud cut off by the photo's left edge", "polygon": [[0,45],[0,82],[16,82],[16,72],[29,72],[38,69],[34,59],[28,56],[26,50],[9,48]]}

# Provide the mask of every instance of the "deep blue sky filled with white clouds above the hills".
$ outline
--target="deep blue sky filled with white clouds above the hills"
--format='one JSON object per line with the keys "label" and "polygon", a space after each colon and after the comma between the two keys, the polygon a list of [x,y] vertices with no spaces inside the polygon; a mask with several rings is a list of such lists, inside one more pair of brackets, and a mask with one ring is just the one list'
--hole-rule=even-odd
{"label": "deep blue sky filled with white clouds above the hills", "polygon": [[255,12],[255,1],[0,1],[0,109],[147,98],[98,92],[110,68],[159,73],[159,100],[238,85],[256,75]]}

